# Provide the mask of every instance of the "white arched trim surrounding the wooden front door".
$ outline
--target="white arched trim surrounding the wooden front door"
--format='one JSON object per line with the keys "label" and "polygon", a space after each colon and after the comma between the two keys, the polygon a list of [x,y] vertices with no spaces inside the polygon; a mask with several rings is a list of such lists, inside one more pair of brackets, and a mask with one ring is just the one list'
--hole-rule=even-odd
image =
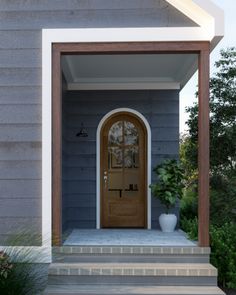
{"label": "white arched trim surrounding the wooden front door", "polygon": [[101,204],[101,187],[100,187],[100,164],[101,164],[101,159],[100,159],[100,146],[101,146],[101,141],[100,141],[100,134],[101,134],[101,129],[103,127],[104,122],[110,118],[112,115],[120,112],[127,112],[130,114],[136,115],[138,118],[141,119],[141,121],[144,123],[147,131],[147,228],[151,229],[151,189],[149,188],[149,184],[151,184],[151,128],[150,125],[147,121],[147,119],[138,111],[130,109],[130,108],[118,108],[110,111],[107,113],[99,122],[98,128],[97,128],[97,140],[96,140],[96,228],[100,229],[101,224],[101,210],[100,210],[100,204]]}

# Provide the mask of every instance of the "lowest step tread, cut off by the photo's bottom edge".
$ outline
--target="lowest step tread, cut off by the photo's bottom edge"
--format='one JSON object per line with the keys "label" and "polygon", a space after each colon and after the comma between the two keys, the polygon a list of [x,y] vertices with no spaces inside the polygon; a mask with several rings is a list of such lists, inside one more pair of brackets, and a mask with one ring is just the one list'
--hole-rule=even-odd
{"label": "lowest step tread, cut off by the photo's bottom edge", "polygon": [[96,294],[96,295],[225,295],[218,287],[199,286],[132,286],[132,285],[49,285],[49,294]]}

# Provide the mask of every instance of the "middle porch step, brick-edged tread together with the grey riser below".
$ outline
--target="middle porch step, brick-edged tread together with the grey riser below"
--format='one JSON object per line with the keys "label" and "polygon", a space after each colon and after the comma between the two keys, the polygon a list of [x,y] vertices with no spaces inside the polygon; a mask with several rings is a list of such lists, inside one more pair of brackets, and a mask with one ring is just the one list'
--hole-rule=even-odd
{"label": "middle porch step, brick-edged tread together with the grey riser below", "polygon": [[196,263],[52,263],[49,284],[217,284],[217,269]]}

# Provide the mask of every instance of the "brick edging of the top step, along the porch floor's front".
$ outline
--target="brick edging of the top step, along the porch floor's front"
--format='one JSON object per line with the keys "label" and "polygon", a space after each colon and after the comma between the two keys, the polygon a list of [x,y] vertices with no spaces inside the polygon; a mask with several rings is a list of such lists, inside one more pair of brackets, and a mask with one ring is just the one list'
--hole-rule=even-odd
{"label": "brick edging of the top step, along the porch floor's front", "polygon": [[159,247],[159,246],[63,246],[53,247],[53,253],[63,254],[172,254],[209,255],[209,247]]}

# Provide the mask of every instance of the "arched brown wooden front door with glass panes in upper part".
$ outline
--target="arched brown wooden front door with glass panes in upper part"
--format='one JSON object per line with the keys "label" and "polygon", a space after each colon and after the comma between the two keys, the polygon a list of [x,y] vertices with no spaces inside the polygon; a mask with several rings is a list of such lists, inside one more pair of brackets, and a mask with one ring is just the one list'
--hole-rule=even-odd
{"label": "arched brown wooden front door with glass panes in upper part", "polygon": [[101,130],[101,225],[146,227],[147,134],[131,113],[111,116]]}

